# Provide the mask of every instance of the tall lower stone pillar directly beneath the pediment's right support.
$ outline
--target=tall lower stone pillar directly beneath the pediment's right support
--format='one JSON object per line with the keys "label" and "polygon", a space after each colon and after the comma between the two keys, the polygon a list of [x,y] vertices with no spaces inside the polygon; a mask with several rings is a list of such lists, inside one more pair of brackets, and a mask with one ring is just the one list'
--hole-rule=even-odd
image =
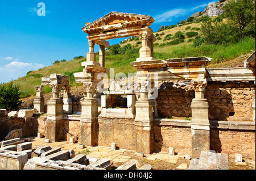
{"label": "tall lower stone pillar directly beneath the pediment's right support", "polygon": [[154,151],[153,107],[148,99],[148,81],[140,81],[139,84],[141,96],[135,104],[136,151],[150,154]]}

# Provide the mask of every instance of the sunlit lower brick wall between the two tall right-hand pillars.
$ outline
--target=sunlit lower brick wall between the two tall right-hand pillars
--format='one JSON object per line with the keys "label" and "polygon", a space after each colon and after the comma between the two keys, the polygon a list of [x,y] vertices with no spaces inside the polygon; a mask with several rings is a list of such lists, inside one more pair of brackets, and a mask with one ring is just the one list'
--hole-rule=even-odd
{"label": "sunlit lower brick wall between the two tall right-hand pillars", "polygon": [[168,152],[169,147],[174,147],[175,152],[191,153],[191,128],[154,125],[155,151]]}

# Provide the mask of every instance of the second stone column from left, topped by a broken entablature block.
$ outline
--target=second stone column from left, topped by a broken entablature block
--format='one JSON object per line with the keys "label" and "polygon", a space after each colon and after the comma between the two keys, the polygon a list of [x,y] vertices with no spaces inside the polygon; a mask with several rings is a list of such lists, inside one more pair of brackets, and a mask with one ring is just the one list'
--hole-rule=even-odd
{"label": "second stone column from left, topped by a broken entablature block", "polygon": [[52,98],[47,102],[47,129],[46,138],[51,141],[60,141],[64,139],[63,132],[63,100],[59,98],[61,85],[50,84],[52,87]]}

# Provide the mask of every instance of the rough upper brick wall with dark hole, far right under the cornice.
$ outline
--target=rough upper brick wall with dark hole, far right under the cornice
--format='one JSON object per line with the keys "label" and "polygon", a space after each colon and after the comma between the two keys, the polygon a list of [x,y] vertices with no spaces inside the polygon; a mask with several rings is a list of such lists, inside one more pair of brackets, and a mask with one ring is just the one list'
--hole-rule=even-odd
{"label": "rough upper brick wall with dark hole, far right under the cornice", "polygon": [[254,82],[208,82],[205,97],[210,120],[251,121]]}

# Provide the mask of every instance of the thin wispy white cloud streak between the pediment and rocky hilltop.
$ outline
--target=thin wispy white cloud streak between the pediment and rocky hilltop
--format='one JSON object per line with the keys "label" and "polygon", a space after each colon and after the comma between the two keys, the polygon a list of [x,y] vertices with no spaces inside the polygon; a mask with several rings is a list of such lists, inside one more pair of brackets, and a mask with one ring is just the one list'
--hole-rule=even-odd
{"label": "thin wispy white cloud streak between the pediment and rocky hilltop", "polygon": [[163,12],[162,14],[154,16],[155,23],[170,22],[172,18],[177,18],[185,14],[192,14],[192,11],[201,7],[207,7],[207,4],[199,5],[191,9],[174,9]]}

